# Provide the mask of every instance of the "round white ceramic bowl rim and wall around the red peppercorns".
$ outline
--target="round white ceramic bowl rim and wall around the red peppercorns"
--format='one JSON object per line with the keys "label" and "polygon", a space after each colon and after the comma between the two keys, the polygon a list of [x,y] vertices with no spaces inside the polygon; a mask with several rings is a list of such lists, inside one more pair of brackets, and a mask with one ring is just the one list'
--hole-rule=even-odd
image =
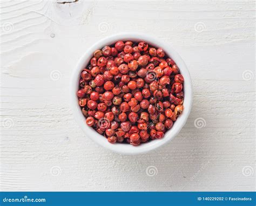
{"label": "round white ceramic bowl rim and wall around the red peppercorns", "polygon": [[[164,49],[167,56],[171,57],[176,64],[178,65],[180,69],[180,73],[184,77],[184,111],[183,113],[177,118],[177,121],[174,122],[173,127],[167,131],[164,134],[164,138],[153,140],[147,143],[142,143],[141,145],[134,147],[130,144],[123,144],[123,143],[115,143],[111,144],[109,143],[106,138],[98,134],[93,128],[89,127],[85,123],[85,117],[82,114],[82,111],[80,109],[80,106],[78,105],[78,98],[77,98],[77,90],[78,90],[78,81],[80,79],[80,72],[87,66],[90,59],[93,57],[93,52],[98,49],[102,49],[105,45],[111,45],[118,40],[131,40],[133,42],[139,42],[140,40],[144,40],[145,42],[149,43],[149,45],[155,46],[155,47],[161,47]],[[190,74],[187,70],[187,67],[179,56],[179,54],[172,49],[172,47],[159,40],[158,38],[154,38],[148,35],[144,34],[138,34],[138,33],[119,33],[117,35],[106,37],[102,40],[99,40],[93,46],[90,47],[90,49],[87,49],[85,53],[83,54],[82,58],[78,61],[78,64],[74,68],[73,76],[71,79],[71,107],[73,109],[73,114],[75,115],[75,119],[78,122],[78,125],[83,129],[85,135],[90,138],[91,140],[98,143],[98,145],[103,146],[107,149],[112,150],[113,152],[122,153],[122,154],[141,154],[149,152],[150,150],[156,149],[165,143],[169,142],[174,136],[176,136],[181,128],[186,123],[186,120],[188,118],[188,115],[191,111],[192,106],[192,85],[191,85],[191,79]]]}

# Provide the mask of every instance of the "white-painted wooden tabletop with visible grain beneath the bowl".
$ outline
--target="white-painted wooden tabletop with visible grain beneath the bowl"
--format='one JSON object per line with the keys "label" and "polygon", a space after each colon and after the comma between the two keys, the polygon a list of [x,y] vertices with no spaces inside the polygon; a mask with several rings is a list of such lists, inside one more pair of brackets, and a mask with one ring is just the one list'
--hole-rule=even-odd
{"label": "white-painted wooden tabletop with visible grain beneath the bowl", "polygon": [[[0,2],[1,190],[255,190],[255,1],[65,1]],[[139,156],[97,146],[69,105],[77,60],[120,31],[170,43],[193,80],[185,127]]]}

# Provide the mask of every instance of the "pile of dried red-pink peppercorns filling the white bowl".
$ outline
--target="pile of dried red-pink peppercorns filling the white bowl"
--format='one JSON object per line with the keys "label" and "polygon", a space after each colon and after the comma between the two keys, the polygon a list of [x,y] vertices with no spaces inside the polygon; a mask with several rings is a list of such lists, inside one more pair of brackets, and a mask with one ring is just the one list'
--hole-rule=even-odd
{"label": "pile of dried red-pink peppercorns filling the white bowl", "polygon": [[163,49],[118,41],[96,50],[77,96],[87,125],[110,143],[163,138],[183,112],[183,75]]}

